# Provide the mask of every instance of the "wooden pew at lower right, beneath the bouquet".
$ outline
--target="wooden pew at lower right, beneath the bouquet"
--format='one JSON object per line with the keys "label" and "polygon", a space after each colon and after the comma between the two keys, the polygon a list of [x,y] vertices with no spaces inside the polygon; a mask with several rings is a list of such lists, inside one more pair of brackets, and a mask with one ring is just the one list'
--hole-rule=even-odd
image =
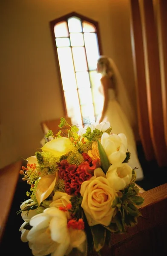
{"label": "wooden pew at lower right, beneath the bouquet", "polygon": [[125,234],[112,234],[111,247],[105,246],[102,256],[167,256],[167,183],[141,196],[145,201],[138,224]]}

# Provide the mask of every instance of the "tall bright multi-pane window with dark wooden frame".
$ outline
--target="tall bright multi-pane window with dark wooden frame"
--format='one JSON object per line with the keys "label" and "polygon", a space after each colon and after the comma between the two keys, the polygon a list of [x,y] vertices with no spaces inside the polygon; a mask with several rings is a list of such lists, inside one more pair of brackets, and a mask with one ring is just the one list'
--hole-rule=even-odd
{"label": "tall bright multi-pane window with dark wooden frame", "polygon": [[75,12],[50,22],[60,71],[64,112],[73,125],[95,122],[101,108],[96,72],[98,23]]}

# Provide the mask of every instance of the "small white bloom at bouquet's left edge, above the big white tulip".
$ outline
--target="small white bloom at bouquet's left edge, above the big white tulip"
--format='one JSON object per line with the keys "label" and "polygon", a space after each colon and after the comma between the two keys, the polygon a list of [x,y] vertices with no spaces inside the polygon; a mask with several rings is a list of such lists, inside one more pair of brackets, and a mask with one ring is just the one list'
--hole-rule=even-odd
{"label": "small white bloom at bouquet's left edge, above the big white tulip", "polygon": [[[29,204],[27,204],[29,203]],[[25,202],[23,202],[23,204],[20,205],[20,209],[23,210],[25,207],[32,207],[33,205],[35,205],[35,202],[32,199],[28,199]],[[38,214],[37,210],[27,210],[27,211],[22,211],[21,212],[21,217],[23,218],[24,221],[29,222],[30,219],[34,216]]]}

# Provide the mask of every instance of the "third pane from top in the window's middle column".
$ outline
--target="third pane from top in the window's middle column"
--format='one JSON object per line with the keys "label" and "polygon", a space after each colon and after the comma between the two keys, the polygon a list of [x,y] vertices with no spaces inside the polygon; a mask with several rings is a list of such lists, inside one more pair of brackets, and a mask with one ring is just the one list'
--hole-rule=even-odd
{"label": "third pane from top in the window's middle column", "polygon": [[75,71],[86,71],[87,62],[84,47],[72,47]]}

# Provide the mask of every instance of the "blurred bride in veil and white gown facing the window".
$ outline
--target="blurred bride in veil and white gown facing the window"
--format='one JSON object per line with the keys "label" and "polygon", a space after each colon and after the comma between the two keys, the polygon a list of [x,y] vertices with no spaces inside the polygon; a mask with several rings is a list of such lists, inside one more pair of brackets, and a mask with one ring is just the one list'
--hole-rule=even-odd
{"label": "blurred bride in veil and white gown facing the window", "polygon": [[[129,165],[136,169],[136,180],[142,180],[143,170],[138,160],[135,137],[132,127],[135,114],[130,105],[121,75],[111,58],[101,56],[97,63],[97,72],[101,74],[100,93],[104,96],[101,114],[96,122],[109,121],[112,133],[124,133],[127,137],[128,150],[131,153]],[[123,111],[124,109],[124,111]]]}

